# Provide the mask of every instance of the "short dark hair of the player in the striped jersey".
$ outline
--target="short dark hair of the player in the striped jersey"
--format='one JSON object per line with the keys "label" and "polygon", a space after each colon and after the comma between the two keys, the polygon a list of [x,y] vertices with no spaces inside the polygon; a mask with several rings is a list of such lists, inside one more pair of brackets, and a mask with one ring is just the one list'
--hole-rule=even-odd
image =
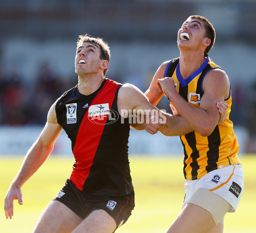
{"label": "short dark hair of the player in the striped jersey", "polygon": [[212,23],[210,23],[208,19],[206,19],[205,17],[200,16],[200,15],[191,15],[188,18],[199,19],[199,20],[203,21],[203,23],[205,25],[205,29],[206,29],[205,36],[211,40],[211,43],[206,47],[205,52],[204,52],[204,55],[207,55],[210,52],[210,50],[212,49],[212,47],[214,46],[215,38],[216,38],[215,29],[212,26]]}

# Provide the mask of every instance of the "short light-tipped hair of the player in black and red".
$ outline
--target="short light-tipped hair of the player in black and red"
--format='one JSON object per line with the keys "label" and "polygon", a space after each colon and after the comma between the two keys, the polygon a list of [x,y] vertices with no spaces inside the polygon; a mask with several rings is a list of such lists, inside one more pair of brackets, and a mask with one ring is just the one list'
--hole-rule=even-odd
{"label": "short light-tipped hair of the player in black and red", "polygon": [[[95,45],[98,49],[100,49],[100,59],[101,60],[107,60],[110,61],[110,49],[109,45],[103,41],[102,38],[94,38],[88,34],[85,35],[79,35],[77,41],[77,48],[84,44],[84,43],[90,43]],[[104,76],[106,75],[107,71],[109,69],[109,66],[104,70]]]}

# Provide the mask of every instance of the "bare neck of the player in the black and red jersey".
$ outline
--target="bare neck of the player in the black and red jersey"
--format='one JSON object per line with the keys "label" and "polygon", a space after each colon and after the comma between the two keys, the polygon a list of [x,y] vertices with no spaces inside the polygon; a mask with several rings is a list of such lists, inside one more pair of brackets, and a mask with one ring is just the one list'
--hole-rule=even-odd
{"label": "bare neck of the player in the black and red jersey", "polygon": [[102,82],[104,81],[104,77],[78,77],[78,90],[81,94],[88,96],[91,93],[94,93]]}

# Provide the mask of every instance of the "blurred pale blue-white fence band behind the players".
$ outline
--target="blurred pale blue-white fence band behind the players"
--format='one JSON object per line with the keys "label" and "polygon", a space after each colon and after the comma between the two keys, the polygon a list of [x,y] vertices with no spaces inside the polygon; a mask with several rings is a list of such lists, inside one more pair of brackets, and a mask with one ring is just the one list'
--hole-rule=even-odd
{"label": "blurred pale blue-white fence band behind the players", "polygon": [[[10,127],[0,126],[0,156],[26,154],[42,131],[42,126]],[[245,128],[235,127],[240,145],[240,153],[245,153],[248,133]],[[52,154],[71,155],[71,141],[62,131],[56,140]],[[129,154],[152,154],[174,156],[183,154],[179,137],[165,137],[160,133],[148,134],[146,131],[130,131]]]}

